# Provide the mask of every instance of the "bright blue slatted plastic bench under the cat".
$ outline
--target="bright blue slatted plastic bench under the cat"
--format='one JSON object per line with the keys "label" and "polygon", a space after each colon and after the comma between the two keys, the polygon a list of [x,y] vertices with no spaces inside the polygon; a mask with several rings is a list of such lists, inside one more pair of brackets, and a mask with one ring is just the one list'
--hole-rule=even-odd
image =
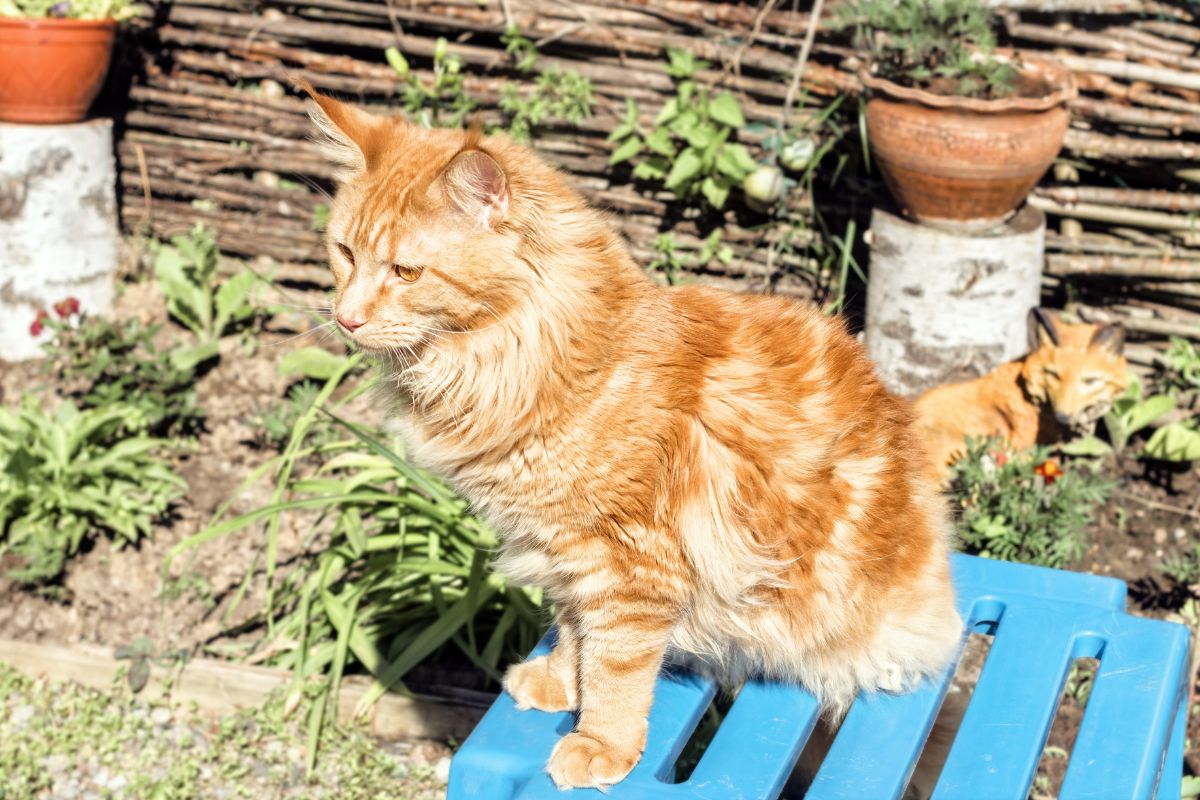
{"label": "bright blue slatted plastic bench under the cat", "polygon": [[[1080,657],[1100,662],[1060,796],[1180,796],[1186,627],[1124,613],[1124,583],[1112,578],[955,555],[954,579],[968,631],[994,632],[995,639],[935,800],[1025,800],[1067,673]],[[805,798],[900,798],[952,674],[910,694],[860,697]],[[748,682],[695,771],[673,783],[676,759],[714,693],[702,678],[661,675],[646,753],[606,794],[560,793],[544,772],[572,715],[517,711],[502,694],[455,756],[448,800],[778,798],[815,726],[812,696]]]}

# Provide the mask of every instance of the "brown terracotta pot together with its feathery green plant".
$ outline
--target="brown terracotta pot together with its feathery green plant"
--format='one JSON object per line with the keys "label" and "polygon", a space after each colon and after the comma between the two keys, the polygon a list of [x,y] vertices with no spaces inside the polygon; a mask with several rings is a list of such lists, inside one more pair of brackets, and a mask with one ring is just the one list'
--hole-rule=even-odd
{"label": "brown terracotta pot together with its feathery green plant", "polygon": [[838,24],[869,54],[868,139],[901,210],[959,228],[1008,218],[1062,148],[1072,73],[998,53],[982,0],[857,0]]}

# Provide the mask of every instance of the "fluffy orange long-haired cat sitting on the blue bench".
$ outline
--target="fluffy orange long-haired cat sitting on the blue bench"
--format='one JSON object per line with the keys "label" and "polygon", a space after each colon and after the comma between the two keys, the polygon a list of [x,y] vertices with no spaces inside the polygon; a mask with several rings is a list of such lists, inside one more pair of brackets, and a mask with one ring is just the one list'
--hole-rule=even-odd
{"label": "fluffy orange long-haired cat sitting on the blue bench", "polygon": [[554,601],[556,649],[504,685],[578,711],[547,763],[558,786],[632,769],[668,654],[799,681],[833,711],[947,666],[943,504],[910,409],[840,323],[655,285],[504,137],[313,100],[344,170],[337,319],[394,375],[413,457],[494,523],[498,567]]}

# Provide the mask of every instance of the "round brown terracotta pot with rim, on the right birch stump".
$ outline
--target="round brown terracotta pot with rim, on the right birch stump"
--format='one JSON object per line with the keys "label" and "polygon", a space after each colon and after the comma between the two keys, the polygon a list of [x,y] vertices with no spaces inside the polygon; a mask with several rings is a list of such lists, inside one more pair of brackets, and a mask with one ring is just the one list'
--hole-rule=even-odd
{"label": "round brown terracotta pot with rim, on the right birch stump", "polygon": [[863,74],[871,152],[901,210],[920,222],[990,228],[1007,219],[1062,148],[1078,89],[1072,73],[1026,59],[1042,97],[979,100]]}

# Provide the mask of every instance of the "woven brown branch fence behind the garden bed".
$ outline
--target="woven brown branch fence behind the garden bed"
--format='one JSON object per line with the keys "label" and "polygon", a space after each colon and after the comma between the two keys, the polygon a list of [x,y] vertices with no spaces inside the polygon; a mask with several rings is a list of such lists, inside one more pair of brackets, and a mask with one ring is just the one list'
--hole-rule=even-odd
{"label": "woven brown branch fence behind the garden bed", "polygon": [[[568,170],[598,206],[610,209],[635,254],[650,260],[654,239],[671,230],[698,248],[714,227],[734,258],[695,265],[697,279],[733,288],[814,296],[828,263],[780,248],[781,225],[745,209],[698,213],[607,166],[606,138],[626,98],[653,126],[674,94],[665,48],[684,48],[712,66],[698,78],[733,91],[751,146],[780,125],[791,128],[839,95],[850,125],[859,66],[846,37],[816,25],[787,0],[174,0],[138,22],[131,48],[137,77],[119,145],[122,221],[130,230],[178,234],[200,221],[224,251],[269,257],[284,279],[328,284],[314,210],[328,203],[330,168],[310,142],[312,127],[290,76],[342,98],[398,108],[401,79],[384,50],[400,49],[428,79],[436,41],[466,66],[467,92],[485,121],[509,82],[528,80],[505,54],[515,24],[538,44],[538,70],[558,65],[590,79],[592,118],[550,122],[533,145]],[[828,19],[830,7],[824,4]],[[1148,362],[1165,337],[1200,338],[1200,25],[1187,2],[1151,0],[1012,0],[998,5],[1008,44],[1050,53],[1073,70],[1081,94],[1058,163],[1031,201],[1050,218],[1045,288],[1085,318],[1123,321]],[[1190,6],[1193,10],[1195,6]],[[791,102],[790,102],[791,101]],[[815,203],[827,228],[818,241],[864,230],[886,190],[863,164],[854,130],[827,160],[812,197],[793,192],[802,215]],[[846,163],[852,162],[847,169]],[[836,166],[835,166],[836,164]],[[835,173],[835,174],[832,174]],[[850,174],[850,178],[846,175]],[[856,228],[851,228],[854,230]],[[794,235],[794,231],[792,231]],[[828,249],[826,251],[828,252]],[[865,257],[860,241],[856,252]],[[860,259],[865,264],[865,258]],[[822,273],[824,270],[824,273]],[[1069,288],[1069,291],[1068,291]]]}

